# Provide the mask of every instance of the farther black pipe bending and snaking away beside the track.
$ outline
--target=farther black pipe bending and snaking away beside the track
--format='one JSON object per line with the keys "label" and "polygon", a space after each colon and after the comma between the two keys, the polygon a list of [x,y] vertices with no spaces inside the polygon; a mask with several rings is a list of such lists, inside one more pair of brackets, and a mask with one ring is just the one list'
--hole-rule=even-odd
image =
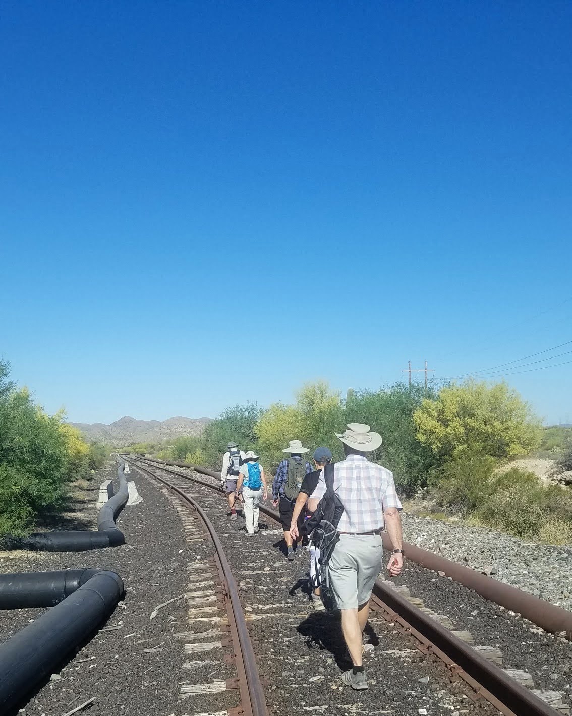
{"label": "farther black pipe bending and snaking away beside the track", "polygon": [[97,515],[97,532],[34,532],[27,537],[4,537],[4,549],[30,549],[48,552],[84,552],[88,549],[116,547],[125,542],[125,536],[116,526],[115,518],[129,499],[127,480],[123,474],[125,463],[117,469],[119,490],[107,500]]}

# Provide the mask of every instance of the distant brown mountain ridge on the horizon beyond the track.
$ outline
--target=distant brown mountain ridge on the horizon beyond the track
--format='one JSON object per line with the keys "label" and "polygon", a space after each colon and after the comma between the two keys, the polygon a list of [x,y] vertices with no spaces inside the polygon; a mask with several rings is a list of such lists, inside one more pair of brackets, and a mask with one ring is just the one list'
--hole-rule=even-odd
{"label": "distant brown mountain ridge on the horizon beyond the track", "polygon": [[111,425],[102,422],[71,422],[78,427],[86,440],[105,442],[112,448],[122,448],[131,442],[165,442],[180,435],[201,435],[205,425],[212,419],[199,417],[170,417],[168,420],[135,420],[134,417],[121,417]]}

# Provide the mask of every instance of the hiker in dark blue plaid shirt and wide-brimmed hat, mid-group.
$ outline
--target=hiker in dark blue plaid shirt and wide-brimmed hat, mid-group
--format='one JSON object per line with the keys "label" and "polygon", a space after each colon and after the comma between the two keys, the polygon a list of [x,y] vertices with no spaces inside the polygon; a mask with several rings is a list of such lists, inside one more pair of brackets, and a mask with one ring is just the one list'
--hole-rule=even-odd
{"label": "hiker in dark blue plaid shirt and wide-brimmed hat, mid-group", "polygon": [[[292,538],[290,536],[290,524],[292,521],[292,512],[294,511],[294,503],[298,497],[298,493],[302,486],[302,480],[305,475],[311,473],[310,463],[302,459],[304,453],[309,453],[309,448],[304,448],[300,440],[290,440],[288,448],[282,450],[283,453],[289,453],[290,457],[282,460],[274,475],[272,483],[272,504],[278,506],[280,511],[280,521],[286,541],[286,550],[288,560],[294,559],[294,549],[292,548]],[[304,518],[300,518],[304,521]]]}

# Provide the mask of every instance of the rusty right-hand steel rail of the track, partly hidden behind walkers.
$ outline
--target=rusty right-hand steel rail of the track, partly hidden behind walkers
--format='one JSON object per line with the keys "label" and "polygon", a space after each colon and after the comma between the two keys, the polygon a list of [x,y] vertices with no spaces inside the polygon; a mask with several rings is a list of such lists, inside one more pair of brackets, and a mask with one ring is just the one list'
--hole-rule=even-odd
{"label": "rusty right-hand steel rail of the track, partly hidden behind walkers", "polygon": [[[145,462],[158,462],[156,460],[148,460],[147,458],[141,459],[145,460]],[[162,463],[163,465],[172,464],[165,463],[164,461],[162,461]],[[175,464],[175,467],[189,468],[190,465],[179,463]],[[167,467],[161,467],[160,469],[173,475],[178,475],[180,478],[193,480],[193,482],[204,485],[211,490],[218,491],[216,485],[207,483],[205,480],[200,480],[190,475],[181,475],[181,473],[177,473],[175,470],[169,470]],[[193,465],[191,469],[196,470],[196,467]],[[196,471],[198,472],[198,470]],[[206,468],[201,468],[200,472],[210,477],[219,477],[218,473],[215,473],[213,470],[207,470]],[[272,519],[279,521],[278,513],[270,508],[260,505],[260,510]],[[386,537],[386,535],[382,535],[382,537]],[[386,544],[386,541],[384,541],[384,546],[386,546]],[[390,543],[389,547],[391,547]],[[405,549],[408,559],[409,547],[410,546],[406,543]],[[419,550],[419,548],[417,549]],[[449,562],[449,560],[445,560],[444,558],[440,559]],[[469,571],[465,567],[461,567],[461,569]],[[490,580],[488,577],[484,577],[484,579]],[[495,580],[490,581],[494,582]],[[503,586],[508,585],[503,584]],[[514,587],[510,589],[514,589]],[[518,592],[517,589],[514,589],[514,591]],[[536,598],[533,597],[533,599]],[[382,581],[376,581],[372,601],[378,609],[392,616],[405,632],[412,634],[420,643],[424,644],[425,648],[423,650],[425,652],[432,652],[432,654],[442,660],[442,662],[445,662],[453,675],[463,679],[475,690],[475,693],[479,697],[488,700],[488,702],[500,710],[505,716],[556,716],[558,713],[551,706],[546,704],[546,702],[538,698],[538,696],[521,686],[515,679],[505,674],[502,669],[475,652],[474,649],[471,649],[471,647],[467,646],[467,644],[462,642],[461,639],[454,634],[451,634],[451,632],[445,629],[438,621],[427,616],[427,614],[420,609],[410,604],[409,601],[398,594],[395,589],[383,584]],[[493,599],[491,601],[496,600]],[[536,601],[542,605],[547,604],[541,599],[536,599]],[[533,620],[531,619],[530,621]]]}

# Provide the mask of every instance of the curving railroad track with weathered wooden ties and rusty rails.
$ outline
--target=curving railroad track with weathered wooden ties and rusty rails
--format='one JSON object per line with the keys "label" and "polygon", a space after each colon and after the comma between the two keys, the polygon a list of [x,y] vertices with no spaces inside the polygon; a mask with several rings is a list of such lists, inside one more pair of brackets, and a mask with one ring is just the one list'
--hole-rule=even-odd
{"label": "curving railroad track with weathered wooden ties and rusty rails", "polygon": [[[218,653],[227,666],[236,662],[237,675],[214,686],[210,682],[182,684],[183,698],[214,698],[214,705],[209,701],[207,707],[205,702],[205,713],[258,716],[268,713],[266,704],[276,714],[306,715],[359,712],[409,716],[447,710],[459,716],[498,712],[554,716],[568,712],[561,694],[523,687],[514,677],[526,682],[526,674],[505,672],[493,663],[499,660],[498,650],[475,648],[470,634],[452,631],[446,616],[422,611],[421,600],[411,596],[407,587],[395,588],[384,581],[378,581],[374,589],[369,642],[364,647],[370,690],[357,700],[341,686],[334,666],[334,661],[339,666],[345,663],[335,616],[314,614],[301,594],[306,583],[306,553],[291,565],[278,551],[281,528],[276,512],[261,505],[266,529],[247,541],[241,531],[243,523],[228,520],[216,473],[202,470],[203,475],[198,475],[180,466],[132,456],[127,459],[155,484],[158,481],[172,500],[176,495],[175,507],[191,540],[203,538],[197,536],[198,521],[190,518],[189,509],[200,518],[201,529],[213,543],[213,558],[208,564],[198,561],[191,570],[189,628],[180,637],[188,639],[185,652],[202,655],[187,664],[189,669],[196,667],[202,673],[205,661],[215,669],[215,659],[204,659],[204,654]],[[214,629],[203,630],[208,621]],[[214,632],[222,634],[227,627],[230,639],[203,641],[218,636]],[[231,652],[225,654],[227,649]],[[266,684],[256,669],[254,652]],[[227,694],[223,699],[227,707],[218,709],[217,690],[220,694],[236,691],[236,687],[240,695],[236,704],[228,705]]]}

